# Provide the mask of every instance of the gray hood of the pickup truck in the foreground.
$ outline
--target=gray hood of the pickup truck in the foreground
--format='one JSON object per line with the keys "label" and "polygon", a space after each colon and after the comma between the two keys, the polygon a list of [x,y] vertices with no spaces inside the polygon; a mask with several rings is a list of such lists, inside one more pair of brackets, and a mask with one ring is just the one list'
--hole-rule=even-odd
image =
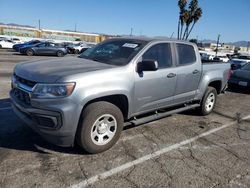
{"label": "gray hood of the pickup truck in the foreground", "polygon": [[70,75],[113,67],[116,66],[83,58],[64,57],[20,63],[15,67],[15,74],[30,81],[53,83]]}

